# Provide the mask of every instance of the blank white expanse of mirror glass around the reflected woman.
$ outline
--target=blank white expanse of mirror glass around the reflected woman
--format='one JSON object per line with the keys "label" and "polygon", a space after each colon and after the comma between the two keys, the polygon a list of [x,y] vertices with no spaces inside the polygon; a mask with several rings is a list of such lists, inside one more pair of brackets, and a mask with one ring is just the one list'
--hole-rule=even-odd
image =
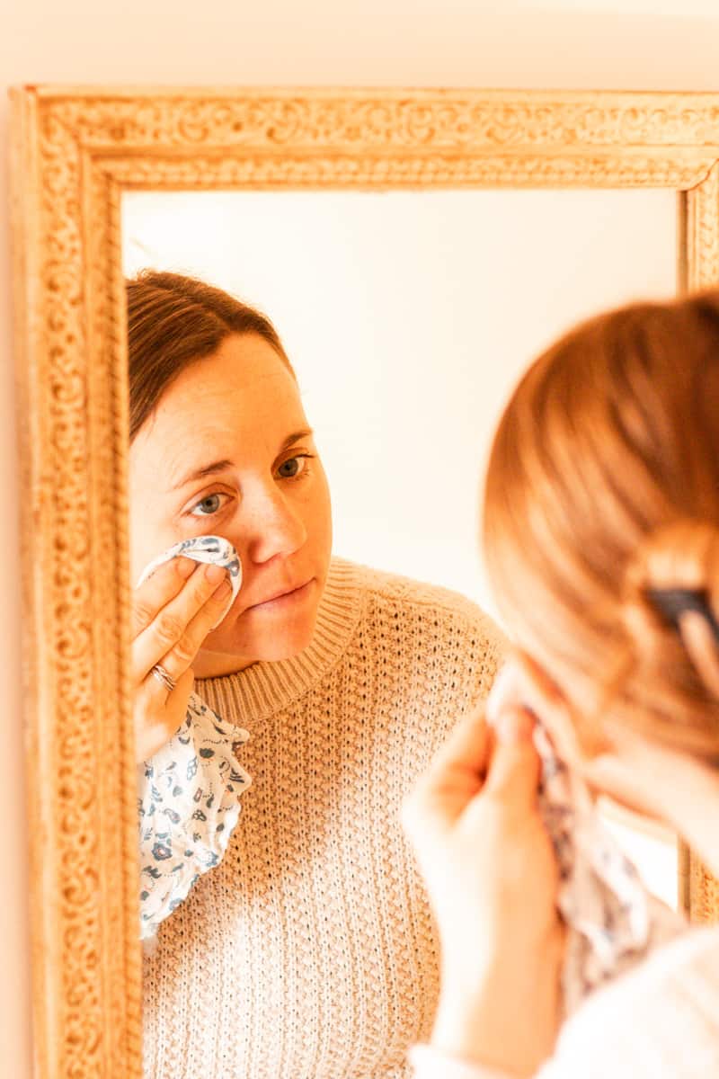
{"label": "blank white expanse of mirror glass around the reflected woman", "polygon": [[[189,273],[275,324],[329,475],[335,552],[490,613],[478,478],[502,404],[575,320],[673,295],[676,233],[664,190],[123,196],[127,275]],[[676,905],[674,836],[607,818]]]}

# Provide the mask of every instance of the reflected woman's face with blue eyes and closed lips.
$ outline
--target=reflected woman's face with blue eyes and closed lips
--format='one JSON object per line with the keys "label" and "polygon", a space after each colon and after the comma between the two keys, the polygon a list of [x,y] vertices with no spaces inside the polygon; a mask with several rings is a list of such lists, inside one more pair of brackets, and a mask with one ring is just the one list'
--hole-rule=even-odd
{"label": "reflected woman's face with blue eyes and closed lips", "polygon": [[206,639],[199,675],[309,643],[330,495],[296,382],[272,345],[232,334],[170,383],[130,447],[129,494],[133,582],[190,536],[224,536],[240,556],[243,586]]}

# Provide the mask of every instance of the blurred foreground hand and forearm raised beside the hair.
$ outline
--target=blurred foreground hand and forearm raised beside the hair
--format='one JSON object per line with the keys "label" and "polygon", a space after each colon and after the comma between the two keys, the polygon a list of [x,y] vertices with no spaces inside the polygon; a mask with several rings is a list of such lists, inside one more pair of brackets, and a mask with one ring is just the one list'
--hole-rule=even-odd
{"label": "blurred foreground hand and forearm raised beside the hair", "polygon": [[558,870],[537,808],[531,714],[475,713],[453,732],[404,805],[442,945],[432,1044],[533,1075],[559,1024]]}

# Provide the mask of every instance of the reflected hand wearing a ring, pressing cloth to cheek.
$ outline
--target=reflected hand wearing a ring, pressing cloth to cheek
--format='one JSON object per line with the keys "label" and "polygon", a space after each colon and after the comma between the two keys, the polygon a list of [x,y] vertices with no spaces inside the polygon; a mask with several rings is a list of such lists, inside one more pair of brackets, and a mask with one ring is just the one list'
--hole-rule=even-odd
{"label": "reflected hand wearing a ring, pressing cloth to cheek", "polygon": [[[174,558],[133,596],[133,687],[137,761],[147,761],[180,727],[194,684],[192,663],[232,591],[222,566]],[[155,678],[162,664],[174,689]]]}

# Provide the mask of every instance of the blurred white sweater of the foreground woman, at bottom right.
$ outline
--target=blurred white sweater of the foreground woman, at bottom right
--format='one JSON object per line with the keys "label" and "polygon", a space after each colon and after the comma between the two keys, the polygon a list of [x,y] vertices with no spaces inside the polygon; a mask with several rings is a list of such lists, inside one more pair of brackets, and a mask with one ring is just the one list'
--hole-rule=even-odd
{"label": "blurred white sweater of the foreground woman, at bottom right", "polygon": [[[414,1079],[511,1079],[428,1046]],[[705,1079],[719,1075],[719,930],[694,929],[597,991],[565,1024],[535,1079]]]}

